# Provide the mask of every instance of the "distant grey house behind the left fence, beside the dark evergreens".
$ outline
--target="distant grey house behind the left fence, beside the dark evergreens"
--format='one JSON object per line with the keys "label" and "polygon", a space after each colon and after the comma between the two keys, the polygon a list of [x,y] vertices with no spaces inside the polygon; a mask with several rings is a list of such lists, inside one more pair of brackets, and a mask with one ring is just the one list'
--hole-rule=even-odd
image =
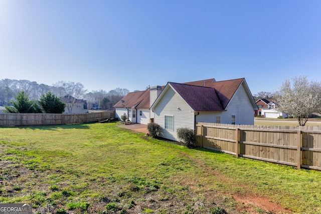
{"label": "distant grey house behind the left fence, beside the dark evergreens", "polygon": [[60,97],[60,100],[66,104],[63,114],[84,114],[87,112],[87,101],[84,99],[76,99],[67,94]]}

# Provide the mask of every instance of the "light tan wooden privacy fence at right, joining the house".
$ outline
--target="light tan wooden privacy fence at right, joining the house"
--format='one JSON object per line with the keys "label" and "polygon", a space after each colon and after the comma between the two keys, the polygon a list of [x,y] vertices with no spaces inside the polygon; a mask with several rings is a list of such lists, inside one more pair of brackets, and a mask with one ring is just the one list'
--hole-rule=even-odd
{"label": "light tan wooden privacy fence at right, joining the house", "polygon": [[240,157],[321,170],[320,126],[197,123],[197,145]]}

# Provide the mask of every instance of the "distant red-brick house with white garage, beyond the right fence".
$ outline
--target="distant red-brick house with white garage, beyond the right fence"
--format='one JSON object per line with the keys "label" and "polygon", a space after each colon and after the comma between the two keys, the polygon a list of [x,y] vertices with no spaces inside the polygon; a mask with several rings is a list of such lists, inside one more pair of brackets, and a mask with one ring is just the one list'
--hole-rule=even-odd
{"label": "distant red-brick house with white garage, beyond the right fence", "polygon": [[261,116],[264,118],[288,117],[287,114],[276,111],[275,99],[258,99],[255,103],[258,110],[254,111],[254,116]]}

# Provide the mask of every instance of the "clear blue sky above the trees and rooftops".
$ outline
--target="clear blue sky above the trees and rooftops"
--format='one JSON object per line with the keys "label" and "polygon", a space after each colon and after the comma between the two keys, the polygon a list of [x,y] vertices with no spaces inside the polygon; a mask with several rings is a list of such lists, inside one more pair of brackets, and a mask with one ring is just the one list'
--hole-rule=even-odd
{"label": "clear blue sky above the trees and rooftops", "polygon": [[245,77],[321,81],[321,1],[0,0],[0,79],[88,91]]}

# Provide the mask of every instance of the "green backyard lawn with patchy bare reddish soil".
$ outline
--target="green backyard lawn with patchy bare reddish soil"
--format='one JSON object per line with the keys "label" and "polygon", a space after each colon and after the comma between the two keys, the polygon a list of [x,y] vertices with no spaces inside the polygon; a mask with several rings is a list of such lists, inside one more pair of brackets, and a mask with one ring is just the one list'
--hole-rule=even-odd
{"label": "green backyard lawn with patchy bare reddish soil", "polygon": [[0,127],[0,202],[37,213],[321,213],[321,172],[116,123]]}

